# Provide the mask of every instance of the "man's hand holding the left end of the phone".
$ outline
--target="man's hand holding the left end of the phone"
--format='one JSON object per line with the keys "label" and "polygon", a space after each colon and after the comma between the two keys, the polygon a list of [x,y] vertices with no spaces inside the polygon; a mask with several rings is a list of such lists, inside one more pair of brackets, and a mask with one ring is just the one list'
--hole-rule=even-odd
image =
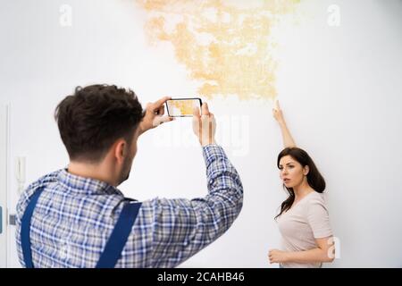
{"label": "man's hand holding the left end of the phone", "polygon": [[163,97],[155,103],[149,103],[146,107],[146,114],[142,121],[139,123],[139,134],[141,135],[147,130],[153,129],[161,125],[163,122],[172,122],[173,117],[163,116],[164,103],[172,99],[172,97]]}

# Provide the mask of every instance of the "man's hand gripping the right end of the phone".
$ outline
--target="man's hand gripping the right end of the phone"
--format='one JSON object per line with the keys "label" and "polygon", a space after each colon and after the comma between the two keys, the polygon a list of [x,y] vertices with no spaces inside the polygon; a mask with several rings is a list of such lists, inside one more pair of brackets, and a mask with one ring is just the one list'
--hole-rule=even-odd
{"label": "man's hand gripping the right end of the phone", "polygon": [[197,107],[194,108],[193,130],[203,147],[215,144],[215,129],[215,117],[214,114],[209,112],[206,102],[201,106],[201,115],[199,114],[199,109]]}

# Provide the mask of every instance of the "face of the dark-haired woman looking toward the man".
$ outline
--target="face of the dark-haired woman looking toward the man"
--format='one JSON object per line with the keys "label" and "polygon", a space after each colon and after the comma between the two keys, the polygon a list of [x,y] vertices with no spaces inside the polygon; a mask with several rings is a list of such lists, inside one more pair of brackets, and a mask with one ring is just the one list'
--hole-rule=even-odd
{"label": "face of the dark-haired woman looking toward the man", "polygon": [[308,166],[298,163],[292,156],[283,156],[280,160],[280,177],[286,188],[294,188],[302,183],[304,176],[308,173]]}

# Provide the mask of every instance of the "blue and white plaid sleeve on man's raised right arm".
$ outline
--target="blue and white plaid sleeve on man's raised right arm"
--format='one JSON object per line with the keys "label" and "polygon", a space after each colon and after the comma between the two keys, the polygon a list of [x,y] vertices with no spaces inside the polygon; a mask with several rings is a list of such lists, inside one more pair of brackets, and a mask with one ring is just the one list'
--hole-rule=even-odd
{"label": "blue and white plaid sleeve on man's raised right arm", "polygon": [[208,194],[205,198],[157,199],[153,266],[174,267],[219,238],[238,217],[243,187],[222,147],[203,147]]}

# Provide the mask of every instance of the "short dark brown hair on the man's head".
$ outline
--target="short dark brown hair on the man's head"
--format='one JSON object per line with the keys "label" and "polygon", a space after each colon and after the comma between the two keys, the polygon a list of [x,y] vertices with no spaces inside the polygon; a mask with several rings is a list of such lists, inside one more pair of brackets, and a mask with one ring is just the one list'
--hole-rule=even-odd
{"label": "short dark brown hair on the man's head", "polygon": [[117,139],[131,144],[143,116],[136,94],[115,85],[75,88],[54,112],[70,160],[90,163],[102,161]]}

